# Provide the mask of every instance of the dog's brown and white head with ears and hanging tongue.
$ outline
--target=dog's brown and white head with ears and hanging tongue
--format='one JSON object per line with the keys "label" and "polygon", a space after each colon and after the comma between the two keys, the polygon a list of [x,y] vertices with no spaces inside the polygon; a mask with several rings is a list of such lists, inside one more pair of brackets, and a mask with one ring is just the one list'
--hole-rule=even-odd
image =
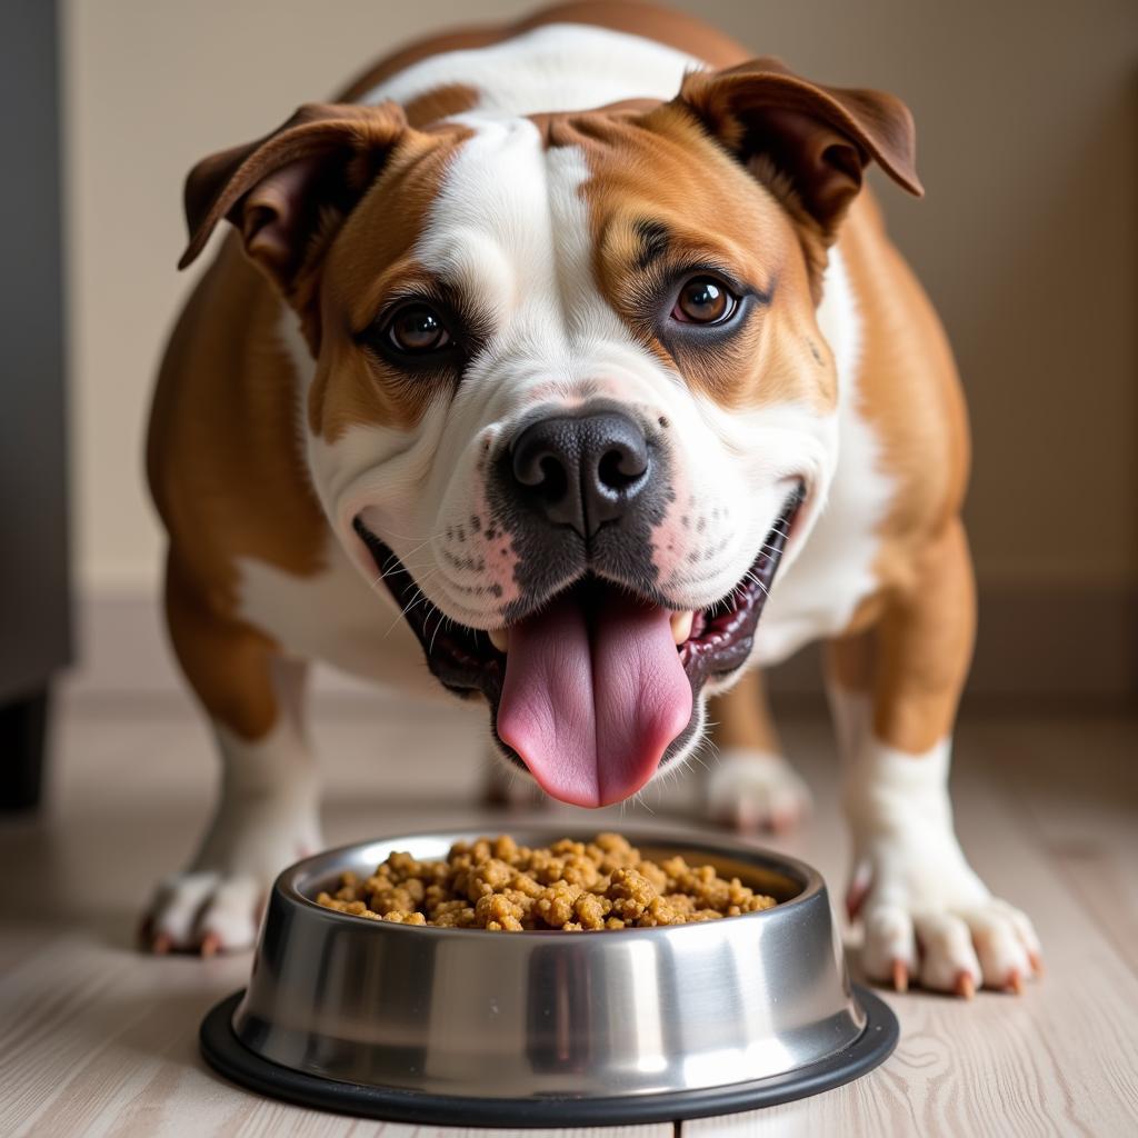
{"label": "dog's brown and white head with ears and hanging tongue", "polygon": [[835,463],[826,248],[913,149],[890,96],[756,60],[418,130],[308,106],[190,174],[183,263],[229,217],[299,318],[337,537],[554,797],[635,793],[747,661]]}

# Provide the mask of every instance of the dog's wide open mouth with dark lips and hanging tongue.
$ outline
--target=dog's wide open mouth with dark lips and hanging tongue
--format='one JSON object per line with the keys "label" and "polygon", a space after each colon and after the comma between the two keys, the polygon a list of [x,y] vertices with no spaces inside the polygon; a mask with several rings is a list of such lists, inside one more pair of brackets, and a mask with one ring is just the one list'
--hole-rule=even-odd
{"label": "dog's wide open mouth with dark lips and hanging tongue", "polygon": [[502,750],[549,794],[597,807],[683,752],[703,685],[747,661],[803,498],[797,485],[751,568],[706,609],[677,612],[586,574],[493,633],[450,619],[362,518],[353,525],[439,683],[486,696]]}

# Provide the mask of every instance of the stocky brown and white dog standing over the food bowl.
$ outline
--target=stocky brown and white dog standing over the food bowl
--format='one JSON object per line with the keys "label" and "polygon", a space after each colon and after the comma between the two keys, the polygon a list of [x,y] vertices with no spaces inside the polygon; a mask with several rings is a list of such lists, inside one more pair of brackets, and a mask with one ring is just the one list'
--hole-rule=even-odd
{"label": "stocky brown and white dog standing over the food bowl", "polygon": [[249,945],[320,846],[306,660],[481,696],[503,768],[586,807],[677,769],[716,695],[747,827],[805,802],[747,669],[823,637],[868,973],[1038,971],[953,830],[965,412],[871,160],[921,192],[891,96],[605,2],[415,44],[195,167],[182,264],[237,232],[149,475],[224,778],[154,947]]}

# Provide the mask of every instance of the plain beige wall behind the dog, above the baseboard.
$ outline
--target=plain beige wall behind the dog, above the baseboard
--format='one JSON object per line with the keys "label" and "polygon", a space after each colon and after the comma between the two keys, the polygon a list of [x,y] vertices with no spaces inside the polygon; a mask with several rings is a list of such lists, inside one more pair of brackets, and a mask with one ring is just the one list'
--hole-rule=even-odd
{"label": "plain beige wall behind the dog, above the baseboard", "polygon": [[[975,431],[982,584],[1138,577],[1138,3],[704,0],[698,10],[827,82],[901,94],[922,203],[893,232],[940,306]],[[69,279],[81,584],[151,588],[142,488],[154,368],[189,281],[181,181],[398,41],[511,0],[71,0]]]}

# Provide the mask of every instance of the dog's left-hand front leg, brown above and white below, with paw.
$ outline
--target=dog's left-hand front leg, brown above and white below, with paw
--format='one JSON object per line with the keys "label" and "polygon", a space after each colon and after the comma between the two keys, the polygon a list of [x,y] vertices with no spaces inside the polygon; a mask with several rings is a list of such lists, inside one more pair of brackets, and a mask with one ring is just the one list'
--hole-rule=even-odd
{"label": "dog's left-hand front leg, brown above and white below, with paw", "polygon": [[143,929],[156,951],[253,945],[267,890],[321,846],[319,786],[303,721],[305,665],[167,585],[171,637],[209,712],[222,760],[197,853],[162,881]]}

